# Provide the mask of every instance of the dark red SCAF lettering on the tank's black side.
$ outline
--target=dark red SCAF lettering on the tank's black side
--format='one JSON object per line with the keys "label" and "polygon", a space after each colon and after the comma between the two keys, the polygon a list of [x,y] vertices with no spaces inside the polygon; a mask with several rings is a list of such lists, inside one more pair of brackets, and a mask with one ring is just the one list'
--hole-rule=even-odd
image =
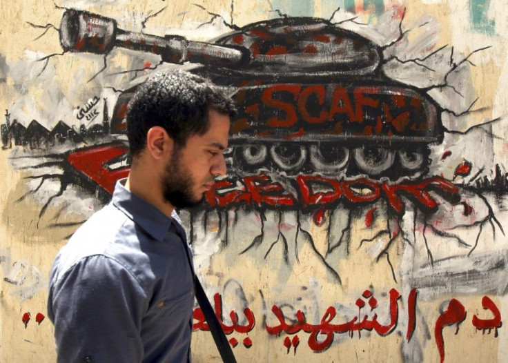
{"label": "dark red SCAF lettering on the tank's black side", "polygon": [[265,122],[266,130],[248,130],[257,137],[277,134],[280,127],[294,128],[287,130],[294,134],[313,124],[326,124],[322,132],[331,134],[427,136],[427,108],[432,108],[412,90],[389,86],[276,84],[256,92],[240,90],[235,98],[244,107],[233,130]]}

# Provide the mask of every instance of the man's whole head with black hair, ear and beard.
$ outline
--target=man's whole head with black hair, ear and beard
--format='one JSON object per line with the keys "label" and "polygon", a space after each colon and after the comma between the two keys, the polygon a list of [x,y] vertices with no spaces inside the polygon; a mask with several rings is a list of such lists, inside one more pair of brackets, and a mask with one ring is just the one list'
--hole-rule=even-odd
{"label": "man's whole head with black hair, ear and beard", "polygon": [[226,173],[222,152],[234,114],[231,98],[202,77],[157,73],[128,105],[131,174],[135,164],[153,173],[163,201],[174,207],[199,202],[214,178]]}

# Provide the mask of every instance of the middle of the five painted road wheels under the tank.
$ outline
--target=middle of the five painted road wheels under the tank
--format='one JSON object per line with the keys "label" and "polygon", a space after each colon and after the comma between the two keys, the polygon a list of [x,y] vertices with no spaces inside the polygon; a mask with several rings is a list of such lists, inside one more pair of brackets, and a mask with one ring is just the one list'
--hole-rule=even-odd
{"label": "middle of the five painted road wheels under the tank", "polygon": [[311,163],[316,171],[337,173],[346,168],[349,150],[343,146],[331,144],[311,145]]}

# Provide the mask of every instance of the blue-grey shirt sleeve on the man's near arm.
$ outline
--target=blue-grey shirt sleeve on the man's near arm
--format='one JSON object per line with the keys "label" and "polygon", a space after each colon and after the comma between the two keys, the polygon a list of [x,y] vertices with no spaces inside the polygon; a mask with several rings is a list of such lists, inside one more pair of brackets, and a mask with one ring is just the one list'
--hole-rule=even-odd
{"label": "blue-grey shirt sleeve on the man's near arm", "polygon": [[114,259],[81,259],[50,284],[57,362],[141,362],[146,293]]}

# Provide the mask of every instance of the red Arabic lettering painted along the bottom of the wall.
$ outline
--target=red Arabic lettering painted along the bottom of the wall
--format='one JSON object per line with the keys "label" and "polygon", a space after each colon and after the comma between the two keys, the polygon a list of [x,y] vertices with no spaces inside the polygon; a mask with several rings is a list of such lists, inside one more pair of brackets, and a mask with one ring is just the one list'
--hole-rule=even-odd
{"label": "red Arabic lettering painted along the bottom of the wall", "polygon": [[[416,329],[416,304],[417,304],[418,291],[416,288],[411,289],[409,295],[407,297],[407,332],[406,332],[406,340],[411,340],[413,333]],[[368,306],[365,301],[368,302]],[[283,344],[287,349],[287,353],[291,350],[291,347],[294,348],[294,353],[296,354],[296,348],[300,344],[300,337],[298,337],[297,333],[303,331],[304,333],[309,334],[308,345],[312,351],[322,352],[326,349],[329,349],[334,340],[334,335],[336,333],[349,333],[351,337],[353,337],[353,333],[358,331],[358,337],[361,337],[361,331],[375,331],[380,336],[387,336],[390,333],[395,331],[395,328],[398,324],[399,319],[399,306],[398,301],[400,300],[400,293],[398,293],[395,288],[392,288],[389,291],[389,321],[386,324],[381,324],[378,322],[378,314],[373,313],[371,317],[369,315],[364,314],[362,318],[362,308],[369,308],[370,311],[373,312],[376,308],[378,308],[378,300],[373,296],[372,291],[365,290],[362,293],[362,296],[356,300],[355,305],[358,306],[358,316],[353,316],[349,321],[346,321],[342,324],[333,324],[333,320],[337,315],[337,311],[335,307],[329,306],[326,309],[324,315],[322,316],[320,322],[318,324],[309,324],[306,321],[305,314],[298,310],[295,313],[295,318],[291,320],[291,324],[286,322],[286,317],[284,313],[282,313],[282,309],[273,305],[271,308],[272,313],[278,320],[278,324],[269,325],[267,322],[264,324],[264,328],[266,329],[266,333],[269,335],[280,335],[281,333],[286,333],[288,335],[294,335],[293,338],[287,336],[284,338]],[[249,308],[244,309],[244,315],[246,317],[247,323],[242,325],[239,324],[238,315],[235,311],[231,311],[229,317],[231,318],[231,324],[224,324],[222,321],[222,298],[217,293],[214,295],[215,302],[215,315],[219,320],[219,323],[224,330],[224,333],[231,334],[233,331],[237,333],[248,334],[250,333],[255,326],[255,317],[252,311]],[[498,336],[497,329],[502,326],[501,315],[498,307],[494,302],[487,296],[482,298],[482,307],[485,310],[491,311],[493,317],[491,319],[480,319],[477,315],[473,315],[472,324],[478,330],[491,331],[494,329],[496,332],[496,337]],[[39,313],[40,314],[40,313]],[[39,315],[38,314],[38,315]],[[41,314],[42,315],[42,314]],[[459,326],[466,319],[466,311],[465,307],[456,299],[451,299],[447,308],[440,314],[438,319],[436,320],[436,326],[434,329],[434,337],[436,339],[436,345],[438,347],[438,352],[440,355],[440,362],[444,362],[444,338],[443,338],[443,329],[445,326],[451,326],[453,324],[457,324],[456,334],[458,333]],[[43,316],[43,315],[42,315]],[[39,318],[36,318],[38,320]],[[193,319],[197,320],[193,324],[193,331],[201,330],[208,331],[208,324],[206,324],[206,320],[204,314],[201,311],[201,308],[196,308],[193,311]],[[361,319],[361,320],[360,320]],[[23,315],[23,323],[28,324],[30,320],[30,313],[25,313]],[[266,320],[266,317],[265,317]],[[229,344],[233,347],[237,346],[238,340],[235,337],[232,337],[228,340]],[[243,344],[246,348],[250,348],[253,344],[250,337],[245,337],[243,340]]]}

